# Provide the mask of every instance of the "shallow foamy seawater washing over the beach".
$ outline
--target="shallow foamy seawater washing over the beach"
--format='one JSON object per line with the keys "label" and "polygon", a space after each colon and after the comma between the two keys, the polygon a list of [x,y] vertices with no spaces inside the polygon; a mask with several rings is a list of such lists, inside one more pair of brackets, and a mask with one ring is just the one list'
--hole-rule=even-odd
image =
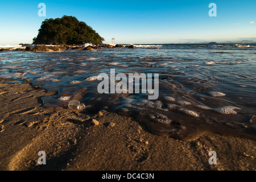
{"label": "shallow foamy seawater washing over the beach", "polygon": [[[250,46],[250,47],[249,47]],[[46,107],[85,104],[134,117],[152,133],[193,139],[214,132],[256,138],[256,44],[163,44],[96,51],[1,52],[0,77],[32,79],[56,94]],[[159,73],[159,98],[99,94],[100,73]]]}

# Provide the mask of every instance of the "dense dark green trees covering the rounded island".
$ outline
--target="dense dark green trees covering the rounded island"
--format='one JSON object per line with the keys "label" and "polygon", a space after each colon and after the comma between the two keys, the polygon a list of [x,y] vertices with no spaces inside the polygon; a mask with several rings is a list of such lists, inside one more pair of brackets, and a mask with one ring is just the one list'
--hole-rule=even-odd
{"label": "dense dark green trees covering the rounded island", "polygon": [[74,16],[46,19],[33,39],[33,44],[102,44],[104,38]]}

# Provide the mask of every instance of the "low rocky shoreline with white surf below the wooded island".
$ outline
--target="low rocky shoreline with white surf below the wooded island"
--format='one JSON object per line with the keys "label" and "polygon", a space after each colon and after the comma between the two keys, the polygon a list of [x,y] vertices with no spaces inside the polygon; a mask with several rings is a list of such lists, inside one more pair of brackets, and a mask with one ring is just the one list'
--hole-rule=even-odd
{"label": "low rocky shoreline with white surf below the wooded island", "polygon": [[56,46],[48,46],[48,45],[30,45],[23,44],[20,47],[5,47],[0,48],[0,52],[4,51],[26,51],[26,52],[52,52],[52,51],[64,51],[64,50],[84,50],[84,51],[93,51],[94,49],[101,48],[135,48],[134,45],[123,46],[121,44],[102,44],[98,46],[79,46],[79,45],[56,45]]}

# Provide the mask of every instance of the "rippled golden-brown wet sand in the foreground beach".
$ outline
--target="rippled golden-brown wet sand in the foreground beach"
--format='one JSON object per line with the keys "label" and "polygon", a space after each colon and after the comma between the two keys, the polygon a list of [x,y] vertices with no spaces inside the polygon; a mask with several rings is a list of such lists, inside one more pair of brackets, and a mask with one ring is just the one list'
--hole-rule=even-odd
{"label": "rippled golden-brown wet sand in the foreground beach", "polygon": [[[0,170],[255,170],[254,140],[205,134],[159,137],[132,118],[44,108],[46,92],[0,81]],[[38,152],[46,152],[46,165]],[[208,163],[216,151],[217,164]]]}

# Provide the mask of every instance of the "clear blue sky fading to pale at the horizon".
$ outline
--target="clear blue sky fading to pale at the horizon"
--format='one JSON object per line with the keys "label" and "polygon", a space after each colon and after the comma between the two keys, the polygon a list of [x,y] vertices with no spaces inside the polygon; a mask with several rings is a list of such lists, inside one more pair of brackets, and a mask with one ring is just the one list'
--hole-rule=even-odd
{"label": "clear blue sky fading to pale at the horizon", "polygon": [[[39,3],[46,16],[38,16]],[[209,16],[209,4],[217,16]],[[44,19],[76,16],[111,43],[256,41],[255,0],[48,1],[1,0],[0,45],[32,43]]]}

